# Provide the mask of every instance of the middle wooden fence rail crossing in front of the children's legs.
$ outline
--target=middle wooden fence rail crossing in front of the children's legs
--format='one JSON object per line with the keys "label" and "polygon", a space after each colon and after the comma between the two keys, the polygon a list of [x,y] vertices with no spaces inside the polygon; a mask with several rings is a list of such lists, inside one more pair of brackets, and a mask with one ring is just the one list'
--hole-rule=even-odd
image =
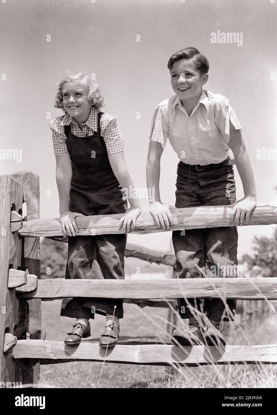
{"label": "middle wooden fence rail crossing in front of the children's legs", "polygon": [[[24,286],[23,286],[24,288]],[[277,299],[277,278],[191,278],[162,280],[38,280],[37,289],[22,298],[238,298]]]}

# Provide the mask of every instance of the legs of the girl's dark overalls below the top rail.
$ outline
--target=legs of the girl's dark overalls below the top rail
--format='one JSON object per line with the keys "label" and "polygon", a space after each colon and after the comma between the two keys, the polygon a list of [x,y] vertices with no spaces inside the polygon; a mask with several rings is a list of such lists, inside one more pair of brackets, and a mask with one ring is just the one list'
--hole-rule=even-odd
{"label": "legs of the girl's dark overalls below the top rail", "polygon": [[[124,279],[126,240],[125,234],[69,237],[66,279]],[[61,305],[61,315],[73,318],[113,312],[123,318],[123,300],[74,297],[63,298]]]}

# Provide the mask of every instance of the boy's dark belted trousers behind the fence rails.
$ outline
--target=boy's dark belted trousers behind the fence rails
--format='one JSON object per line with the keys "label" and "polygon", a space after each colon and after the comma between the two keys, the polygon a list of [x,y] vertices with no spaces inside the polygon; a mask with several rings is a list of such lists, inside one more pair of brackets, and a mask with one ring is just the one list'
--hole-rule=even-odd
{"label": "boy's dark belted trousers behind the fence rails", "polygon": [[[201,170],[180,163],[176,183],[177,208],[209,205],[231,205],[236,201],[236,186],[232,166]],[[237,276],[238,232],[236,227],[218,227],[174,231],[177,278],[232,278]],[[220,272],[219,272],[220,271]],[[230,272],[231,271],[231,272]],[[199,312],[209,320],[232,321],[236,300],[220,298],[178,299],[181,318],[198,317]]]}

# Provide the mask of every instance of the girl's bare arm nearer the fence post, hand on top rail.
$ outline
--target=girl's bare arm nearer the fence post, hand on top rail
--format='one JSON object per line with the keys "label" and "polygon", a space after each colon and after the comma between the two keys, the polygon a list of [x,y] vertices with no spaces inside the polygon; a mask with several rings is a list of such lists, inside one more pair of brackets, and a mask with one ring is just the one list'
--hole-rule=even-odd
{"label": "girl's bare arm nearer the fence post, hand on top rail", "polygon": [[69,210],[69,192],[72,177],[72,168],[69,154],[56,157],[56,182],[60,201],[60,220],[63,234],[75,236],[78,227],[75,222],[76,216],[83,216],[81,213],[70,212]]}

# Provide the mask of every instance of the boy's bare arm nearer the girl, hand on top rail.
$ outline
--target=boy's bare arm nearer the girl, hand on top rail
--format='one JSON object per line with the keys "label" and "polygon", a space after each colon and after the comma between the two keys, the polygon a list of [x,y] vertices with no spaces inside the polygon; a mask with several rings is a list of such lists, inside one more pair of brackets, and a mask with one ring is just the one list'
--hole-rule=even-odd
{"label": "boy's bare arm nearer the girl, hand on top rail", "polygon": [[160,201],[160,157],[163,147],[159,142],[149,141],[146,163],[146,183],[148,189],[150,213],[154,217],[156,225],[163,229],[170,229],[173,225],[172,215],[168,205]]}

